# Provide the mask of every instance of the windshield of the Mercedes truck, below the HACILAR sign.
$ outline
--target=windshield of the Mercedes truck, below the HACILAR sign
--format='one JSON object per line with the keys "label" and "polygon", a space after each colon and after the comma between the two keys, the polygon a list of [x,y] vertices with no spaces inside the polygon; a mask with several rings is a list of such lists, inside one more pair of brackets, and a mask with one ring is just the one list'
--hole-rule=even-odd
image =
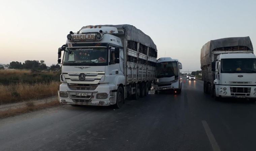
{"label": "windshield of the Mercedes truck, below the HACILAR sign", "polygon": [[67,48],[63,65],[105,65],[107,64],[106,47]]}

